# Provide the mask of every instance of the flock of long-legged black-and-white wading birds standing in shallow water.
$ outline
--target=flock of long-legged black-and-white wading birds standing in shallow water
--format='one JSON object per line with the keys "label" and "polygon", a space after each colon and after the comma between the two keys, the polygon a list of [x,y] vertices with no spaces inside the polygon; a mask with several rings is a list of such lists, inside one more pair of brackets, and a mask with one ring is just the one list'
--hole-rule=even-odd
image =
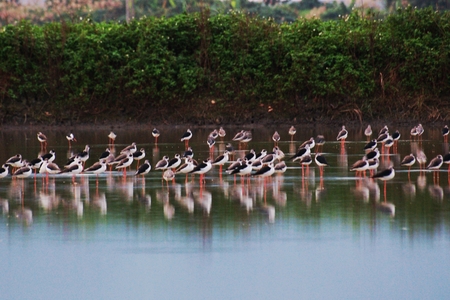
{"label": "flock of long-legged black-and-white wading birds standing in shallow water", "polygon": [[[294,136],[297,130],[294,126],[289,128],[288,134],[291,137],[291,142],[294,141]],[[154,128],[152,131],[152,136],[155,139],[155,145],[158,143],[158,138],[160,137],[160,131]],[[417,140],[419,143],[421,137],[424,133],[424,128],[421,124],[414,126],[410,131],[411,140]],[[395,170],[391,164],[386,169],[377,172],[380,166],[380,157],[383,154],[389,154],[391,148],[396,151],[398,141],[401,138],[401,134],[398,130],[395,130],[392,134],[390,133],[387,126],[382,127],[378,131],[376,138],[372,139],[376,133],[372,130],[370,125],[364,130],[364,134],[367,137],[367,143],[365,144],[363,151],[364,154],[362,158],[354,162],[349,168],[350,171],[354,171],[357,177],[365,177],[366,172],[369,171],[370,178],[380,179],[383,181],[390,180],[395,176]],[[442,136],[444,141],[448,141],[449,128],[444,126],[442,129]],[[271,152],[262,149],[260,152],[256,152],[253,149],[247,150],[248,143],[252,140],[252,131],[241,130],[237,132],[231,139],[231,142],[238,143],[238,148],[240,153],[244,153],[241,157],[234,159],[235,149],[233,145],[227,143],[225,146],[225,151],[217,157],[213,157],[214,145],[217,139],[221,139],[224,142],[226,132],[223,127],[220,129],[215,129],[207,136],[206,143],[210,149],[210,157],[207,159],[197,162],[194,159],[194,151],[189,146],[189,141],[192,138],[193,133],[190,129],[181,136],[180,142],[184,142],[185,151],[182,154],[175,154],[173,158],[165,155],[158,161],[154,170],[162,171],[162,179],[165,181],[175,180],[177,174],[186,174],[186,180],[188,174],[199,174],[200,184],[205,183],[205,174],[208,173],[213,166],[219,166],[219,174],[222,173],[229,175],[240,175],[242,178],[247,177],[263,177],[267,178],[275,173],[284,173],[288,167],[286,162],[298,162],[302,168],[302,175],[304,175],[305,170],[308,170],[310,164],[314,161],[319,168],[320,178],[324,175],[324,167],[328,166],[328,162],[321,152],[323,151],[323,146],[325,143],[325,137],[323,135],[318,135],[316,138],[311,137],[310,139],[304,141],[296,150],[296,152],[289,158],[286,158],[285,153],[280,149],[279,142],[281,136],[278,131],[275,131],[272,135],[272,140],[274,142],[274,147]],[[144,176],[152,170],[152,166],[149,160],[145,160],[144,163],[140,164],[146,156],[145,149],[138,149],[136,143],[132,143],[129,146],[124,147],[117,156],[111,151],[111,147],[114,146],[117,135],[114,132],[108,134],[108,144],[109,147],[100,155],[98,160],[91,166],[86,167],[86,162],[90,158],[90,147],[86,145],[84,150],[76,153],[70,157],[67,163],[60,167],[54,160],[56,158],[56,153],[54,150],[46,152],[48,146],[47,137],[42,133],[37,133],[37,139],[40,143],[41,152],[45,153],[39,157],[27,160],[22,157],[21,154],[16,154],[9,158],[0,168],[0,178],[12,175],[12,177],[17,178],[27,178],[31,177],[34,173],[45,174],[48,178],[49,174],[70,174],[73,175],[73,182],[75,182],[75,175],[81,173],[95,174],[98,175],[106,172],[108,169],[112,171],[114,168],[116,171],[122,171],[123,175],[126,176],[127,169],[131,167],[134,161],[137,161],[135,176]],[[341,147],[344,147],[346,139],[348,138],[348,131],[345,126],[342,126],[341,130],[336,136],[336,140],[341,143]],[[71,148],[72,143],[76,142],[76,138],[73,133],[66,136],[68,141],[68,146]],[[312,150],[316,149],[313,153]],[[420,170],[432,170],[434,172],[434,180],[439,180],[438,171],[443,164],[448,164],[450,168],[450,154],[439,154],[434,157],[429,164],[425,167],[427,158],[425,153],[417,149],[415,153],[410,153],[406,155],[400,163],[400,166],[408,168],[408,178],[409,171],[414,164],[418,163]],[[225,169],[223,171],[223,168]]]}

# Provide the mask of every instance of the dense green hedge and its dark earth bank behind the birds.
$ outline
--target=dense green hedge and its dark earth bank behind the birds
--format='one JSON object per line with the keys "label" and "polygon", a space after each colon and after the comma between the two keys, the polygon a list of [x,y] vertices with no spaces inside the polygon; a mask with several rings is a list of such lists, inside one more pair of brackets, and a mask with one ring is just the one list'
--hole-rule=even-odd
{"label": "dense green hedge and its dark earth bank behind the birds", "polygon": [[[208,11],[0,29],[3,122],[450,116],[450,15],[277,24]],[[214,101],[212,101],[214,100]]]}

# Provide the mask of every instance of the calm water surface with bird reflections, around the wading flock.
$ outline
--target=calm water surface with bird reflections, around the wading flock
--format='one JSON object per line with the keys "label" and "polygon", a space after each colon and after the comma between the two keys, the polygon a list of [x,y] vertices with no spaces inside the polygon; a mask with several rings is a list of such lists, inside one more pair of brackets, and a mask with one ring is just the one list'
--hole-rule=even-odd
{"label": "calm water surface with bird reflections, around the wading flock", "polygon": [[[185,128],[160,128],[156,147],[150,129],[117,130],[116,150],[135,141],[152,165],[173,157],[184,145]],[[227,129],[225,142],[238,128]],[[249,128],[250,129],[250,128]],[[343,148],[336,128],[297,128],[289,156],[300,142],[324,134],[330,166],[322,180],[311,165],[308,176],[296,163],[264,184],[236,183],[218,168],[174,184],[152,171],[144,179],[121,173],[0,181],[1,299],[379,299],[446,298],[450,288],[450,206],[446,166],[439,182],[414,166],[408,178],[399,162],[423,149],[430,161],[448,152],[439,128],[426,128],[421,143],[403,134],[392,162],[396,177],[383,183],[360,181],[349,166],[360,159],[363,129],[351,128]],[[38,130],[0,133],[0,161],[16,153],[32,159],[40,151]],[[253,128],[248,148],[271,149],[275,128]],[[210,129],[194,129],[190,141],[198,160],[209,156]],[[56,162],[91,145],[91,159],[107,147],[108,130],[45,132]],[[237,144],[234,144],[237,148]],[[218,142],[213,156],[224,149]],[[392,149],[391,149],[392,151]],[[238,151],[237,155],[242,155]],[[135,165],[133,165],[135,166]],[[133,167],[135,168],[135,167]],[[382,167],[380,167],[382,168]],[[198,177],[198,176],[197,176]],[[392,208],[395,207],[395,212]]]}

